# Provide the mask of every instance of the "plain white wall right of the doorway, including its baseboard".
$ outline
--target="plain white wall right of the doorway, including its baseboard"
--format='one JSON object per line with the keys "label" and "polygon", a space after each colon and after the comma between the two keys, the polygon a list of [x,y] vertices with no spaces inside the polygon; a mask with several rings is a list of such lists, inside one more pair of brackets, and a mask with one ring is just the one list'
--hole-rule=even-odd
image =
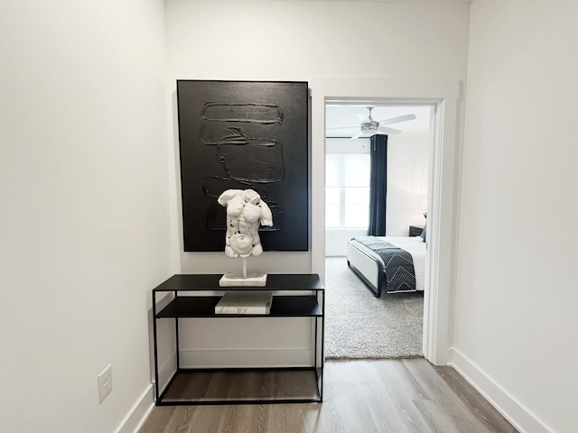
{"label": "plain white wall right of the doorway, including its baseboard", "polygon": [[578,431],[577,22],[471,5],[454,360],[532,433]]}

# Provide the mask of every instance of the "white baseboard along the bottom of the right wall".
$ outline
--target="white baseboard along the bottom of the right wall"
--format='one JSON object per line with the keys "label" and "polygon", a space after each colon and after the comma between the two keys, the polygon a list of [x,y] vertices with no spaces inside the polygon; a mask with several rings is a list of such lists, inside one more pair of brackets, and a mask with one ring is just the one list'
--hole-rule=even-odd
{"label": "white baseboard along the bottom of the right wall", "polygon": [[520,433],[551,433],[553,431],[466,355],[455,348],[451,348],[450,352],[452,362],[448,365],[460,373]]}

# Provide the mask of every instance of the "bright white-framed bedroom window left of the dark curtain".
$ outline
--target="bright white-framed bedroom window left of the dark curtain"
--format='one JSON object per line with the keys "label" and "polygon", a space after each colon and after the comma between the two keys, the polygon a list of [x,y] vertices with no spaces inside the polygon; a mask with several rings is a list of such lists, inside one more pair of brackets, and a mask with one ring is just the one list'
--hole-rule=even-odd
{"label": "bright white-framed bedroom window left of the dark curtain", "polygon": [[369,152],[331,152],[328,145],[325,161],[325,227],[367,228]]}

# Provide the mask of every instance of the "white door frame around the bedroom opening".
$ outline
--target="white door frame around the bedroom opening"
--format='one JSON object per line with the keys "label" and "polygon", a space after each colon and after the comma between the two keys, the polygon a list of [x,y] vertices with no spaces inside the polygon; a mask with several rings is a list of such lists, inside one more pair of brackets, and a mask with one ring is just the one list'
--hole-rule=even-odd
{"label": "white door frame around the bedroom opening", "polygon": [[424,292],[424,357],[435,365],[451,361],[454,315],[454,253],[460,82],[455,80],[312,77],[312,272],[325,279],[325,106],[327,102],[434,106],[430,150],[427,235],[429,263]]}

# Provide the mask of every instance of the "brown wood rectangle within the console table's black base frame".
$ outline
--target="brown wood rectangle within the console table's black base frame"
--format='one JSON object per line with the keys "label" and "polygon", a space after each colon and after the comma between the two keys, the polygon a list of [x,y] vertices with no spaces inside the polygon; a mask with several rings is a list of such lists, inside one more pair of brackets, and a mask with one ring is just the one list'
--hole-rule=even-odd
{"label": "brown wood rectangle within the console table's black base frame", "polygon": [[180,370],[156,404],[321,402],[321,377],[314,367]]}

